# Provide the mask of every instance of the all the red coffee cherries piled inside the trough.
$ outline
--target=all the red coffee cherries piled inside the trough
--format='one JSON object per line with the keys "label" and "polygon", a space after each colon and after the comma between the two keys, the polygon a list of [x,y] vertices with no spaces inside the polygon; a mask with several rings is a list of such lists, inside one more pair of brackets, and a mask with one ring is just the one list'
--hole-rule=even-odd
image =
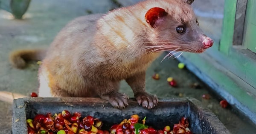
{"label": "all the red coffee cherries piled inside the trough", "polygon": [[145,125],[145,118],[139,120],[137,114],[130,119],[124,119],[119,124],[114,124],[109,130],[102,130],[102,121],[92,116],[82,118],[81,113],[70,114],[63,110],[52,115],[37,114],[34,119],[27,119],[28,134],[192,134],[189,123],[182,117],[173,130],[167,125],[163,130],[156,130]]}

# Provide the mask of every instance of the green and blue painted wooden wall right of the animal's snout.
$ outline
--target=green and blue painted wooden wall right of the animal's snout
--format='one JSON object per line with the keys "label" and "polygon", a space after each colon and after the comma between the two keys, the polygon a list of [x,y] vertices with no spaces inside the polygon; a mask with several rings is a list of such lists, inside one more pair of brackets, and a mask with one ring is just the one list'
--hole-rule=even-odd
{"label": "green and blue painted wooden wall right of the animal's snout", "polygon": [[243,42],[234,46],[236,6],[237,0],[225,0],[221,39],[203,54],[183,53],[183,61],[192,64],[191,71],[256,123],[256,0],[247,0]]}

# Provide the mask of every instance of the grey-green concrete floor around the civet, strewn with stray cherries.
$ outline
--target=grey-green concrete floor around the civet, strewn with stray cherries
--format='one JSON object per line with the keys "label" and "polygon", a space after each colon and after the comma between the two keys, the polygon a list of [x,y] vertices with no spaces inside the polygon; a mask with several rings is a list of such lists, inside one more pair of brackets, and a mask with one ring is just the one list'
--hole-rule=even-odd
{"label": "grey-green concrete floor around the civet, strewn with stray cherries", "polygon": [[[123,5],[129,1],[121,1]],[[207,5],[206,5],[207,3]],[[209,6],[211,5],[211,6]],[[207,35],[218,40],[221,36],[224,0],[195,0],[193,4],[199,23]],[[116,5],[111,0],[32,0],[24,20],[13,20],[12,15],[0,10],[0,91],[10,91],[29,96],[37,91],[36,63],[29,63],[23,70],[12,68],[8,56],[10,51],[19,48],[47,48],[58,31],[75,17],[92,13],[105,13]],[[210,8],[209,8],[210,7]],[[214,8],[213,8],[214,7]],[[210,25],[209,25],[210,24]],[[186,69],[177,68],[176,59],[166,59],[165,54],[158,58],[146,75],[146,89],[160,98],[194,97],[201,100],[205,108],[214,112],[221,122],[234,134],[256,134],[256,128],[247,123],[233,111],[233,108],[221,108],[220,98],[211,93],[210,88],[198,80]],[[159,73],[161,79],[153,80],[151,76]],[[166,82],[167,77],[174,77],[178,88],[172,88]],[[192,83],[199,83],[201,89],[191,88]],[[157,90],[156,90],[157,89]],[[121,91],[132,97],[132,91],[122,82]],[[210,94],[210,100],[202,99],[202,94]],[[0,134],[9,134],[12,120],[12,104],[0,102]]]}

